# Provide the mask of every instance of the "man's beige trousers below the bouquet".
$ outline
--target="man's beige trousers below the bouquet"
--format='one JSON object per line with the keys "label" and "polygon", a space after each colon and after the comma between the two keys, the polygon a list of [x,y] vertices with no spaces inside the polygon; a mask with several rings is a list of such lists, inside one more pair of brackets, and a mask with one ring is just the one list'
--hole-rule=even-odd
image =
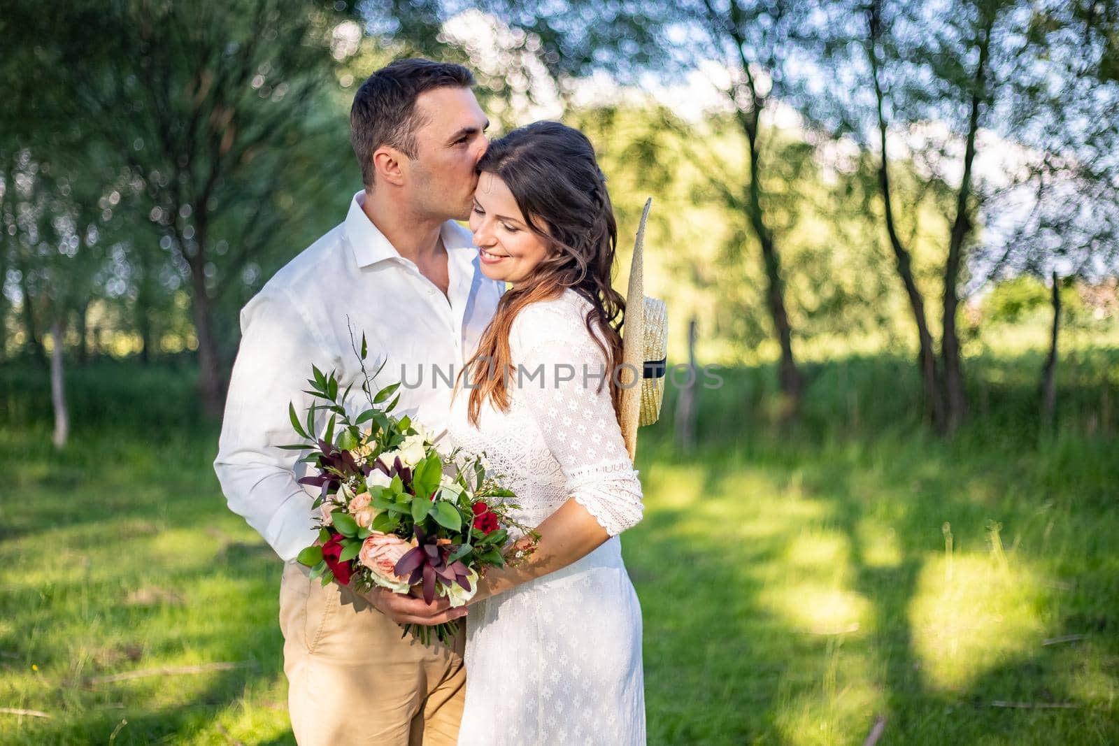
{"label": "man's beige trousers below the bouquet", "polygon": [[300,746],[454,746],[467,691],[454,650],[401,638],[399,625],[295,563],[280,586],[288,708]]}

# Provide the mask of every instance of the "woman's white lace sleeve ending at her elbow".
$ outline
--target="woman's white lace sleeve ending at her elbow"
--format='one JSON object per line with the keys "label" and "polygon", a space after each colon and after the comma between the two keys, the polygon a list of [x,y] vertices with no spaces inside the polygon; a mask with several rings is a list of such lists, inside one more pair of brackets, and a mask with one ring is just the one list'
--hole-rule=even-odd
{"label": "woman's white lace sleeve ending at her elbow", "polygon": [[511,387],[563,469],[568,494],[617,536],[641,520],[641,483],[610,400],[605,358],[581,308],[537,303],[518,314],[510,333],[517,366]]}

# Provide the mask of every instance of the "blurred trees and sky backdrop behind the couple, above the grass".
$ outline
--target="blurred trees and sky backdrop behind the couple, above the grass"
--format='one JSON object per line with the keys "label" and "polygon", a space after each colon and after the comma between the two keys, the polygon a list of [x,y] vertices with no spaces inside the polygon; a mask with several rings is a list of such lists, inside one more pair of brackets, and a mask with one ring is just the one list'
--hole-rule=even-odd
{"label": "blurred trees and sky backdrop behind the couple, above the grass", "polygon": [[951,433],[1022,294],[1052,419],[1061,314],[1115,329],[1112,0],[13,0],[0,31],[0,356],[54,355],[59,395],[91,358],[181,361],[216,416],[238,309],[360,188],[352,92],[416,54],[471,66],[499,131],[583,128],[624,233],[653,196],[674,357],[694,318],[699,362],[772,362],[767,418],[815,362],[901,353]]}

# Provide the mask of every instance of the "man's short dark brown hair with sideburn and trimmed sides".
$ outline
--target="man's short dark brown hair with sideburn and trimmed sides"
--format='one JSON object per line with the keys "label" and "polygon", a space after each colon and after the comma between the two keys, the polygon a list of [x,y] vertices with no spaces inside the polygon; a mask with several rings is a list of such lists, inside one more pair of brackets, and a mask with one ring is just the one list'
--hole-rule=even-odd
{"label": "man's short dark brown hair with sideburn and trimmed sides", "polygon": [[415,132],[424,122],[415,111],[416,98],[434,88],[469,88],[474,76],[462,65],[430,59],[397,59],[369,76],[350,107],[350,141],[361,164],[361,181],[373,187],[373,153],[392,145],[416,157]]}

